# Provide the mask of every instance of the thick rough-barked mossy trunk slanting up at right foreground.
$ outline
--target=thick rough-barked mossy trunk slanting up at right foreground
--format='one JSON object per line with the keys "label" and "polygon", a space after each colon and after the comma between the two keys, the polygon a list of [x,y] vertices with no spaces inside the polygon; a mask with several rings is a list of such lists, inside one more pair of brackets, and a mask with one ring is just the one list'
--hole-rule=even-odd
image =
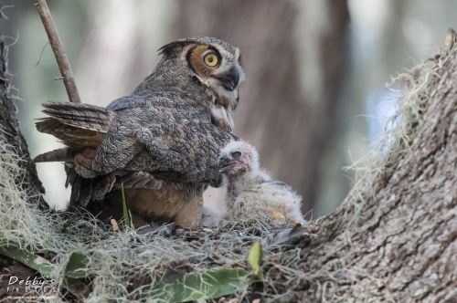
{"label": "thick rough-barked mossy trunk slanting up at right foreground", "polygon": [[329,277],[303,280],[296,288],[309,287],[303,301],[446,302],[457,296],[455,43],[397,80],[403,94],[396,128],[302,251],[299,267]]}

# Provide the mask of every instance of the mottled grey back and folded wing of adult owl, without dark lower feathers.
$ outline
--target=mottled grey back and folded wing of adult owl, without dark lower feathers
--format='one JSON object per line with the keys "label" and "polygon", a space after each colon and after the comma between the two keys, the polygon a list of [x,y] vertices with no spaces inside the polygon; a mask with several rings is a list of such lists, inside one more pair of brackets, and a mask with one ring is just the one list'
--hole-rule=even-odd
{"label": "mottled grey back and folded wing of adult owl, without dark lower feathers", "polygon": [[114,100],[107,110],[116,119],[94,157],[95,171],[143,171],[177,182],[220,183],[219,150],[238,138],[211,124],[200,102],[157,93]]}

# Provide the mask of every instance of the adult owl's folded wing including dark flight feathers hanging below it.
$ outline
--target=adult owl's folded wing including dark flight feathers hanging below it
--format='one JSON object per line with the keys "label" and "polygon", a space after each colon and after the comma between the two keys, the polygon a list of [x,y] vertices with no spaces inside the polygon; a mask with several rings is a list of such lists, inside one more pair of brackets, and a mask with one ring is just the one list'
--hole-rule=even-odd
{"label": "adult owl's folded wing including dark flight feathers hanging below it", "polygon": [[207,111],[197,103],[128,96],[113,101],[106,110],[110,125],[103,129],[106,132],[90,159],[95,178],[69,174],[70,204],[100,200],[118,188],[120,180],[126,188],[155,188],[160,186],[157,179],[189,186],[220,185],[219,149],[237,138],[211,124]]}

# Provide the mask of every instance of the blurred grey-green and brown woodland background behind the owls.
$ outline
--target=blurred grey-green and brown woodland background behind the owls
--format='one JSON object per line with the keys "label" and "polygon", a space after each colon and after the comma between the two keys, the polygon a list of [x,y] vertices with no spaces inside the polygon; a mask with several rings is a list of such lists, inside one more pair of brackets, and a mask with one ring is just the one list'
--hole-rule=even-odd
{"label": "blurred grey-green and brown woodland background behind the owls", "polygon": [[[59,147],[35,130],[40,104],[66,100],[33,1],[2,4],[11,93],[31,156]],[[412,68],[457,27],[453,0],[48,0],[83,102],[106,106],[154,69],[157,49],[212,36],[239,47],[248,81],[234,133],[260,152],[273,178],[303,195],[307,219],[327,214],[394,112],[391,76]],[[61,163],[40,163],[49,204],[63,206]],[[206,201],[220,202],[218,190]]]}

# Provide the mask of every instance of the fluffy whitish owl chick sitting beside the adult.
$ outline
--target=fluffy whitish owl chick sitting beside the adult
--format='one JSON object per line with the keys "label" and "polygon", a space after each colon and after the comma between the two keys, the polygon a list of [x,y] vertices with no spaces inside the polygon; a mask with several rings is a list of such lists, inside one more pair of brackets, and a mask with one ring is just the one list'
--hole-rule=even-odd
{"label": "fluffy whitish owl chick sitting beside the adult", "polygon": [[245,141],[232,141],[220,151],[219,172],[226,179],[227,217],[268,217],[277,222],[303,222],[302,197],[260,168],[259,154]]}

